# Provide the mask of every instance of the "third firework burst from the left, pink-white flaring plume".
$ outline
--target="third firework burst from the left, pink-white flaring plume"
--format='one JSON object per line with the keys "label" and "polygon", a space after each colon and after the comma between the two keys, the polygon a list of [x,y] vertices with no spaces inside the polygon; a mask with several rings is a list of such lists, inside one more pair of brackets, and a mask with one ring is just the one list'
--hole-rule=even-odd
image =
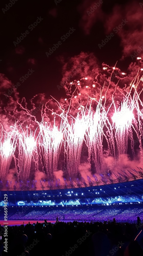
{"label": "third firework burst from the left, pink-white flaring plume", "polygon": [[[41,164],[44,171],[46,169],[46,174],[49,179],[53,179],[54,172],[57,170],[59,154],[61,152],[61,146],[63,141],[63,120],[61,121],[59,130],[55,125],[55,119],[53,124],[53,129],[51,125],[48,126],[47,122],[42,122],[39,124],[40,135],[39,135],[39,147],[41,155]],[[42,156],[44,160],[44,165],[42,163]]]}

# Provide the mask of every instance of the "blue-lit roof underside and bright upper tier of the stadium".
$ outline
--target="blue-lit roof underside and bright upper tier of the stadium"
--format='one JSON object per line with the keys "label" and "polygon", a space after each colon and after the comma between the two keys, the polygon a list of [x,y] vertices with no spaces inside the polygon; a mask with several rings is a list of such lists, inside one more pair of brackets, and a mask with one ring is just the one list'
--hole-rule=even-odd
{"label": "blue-lit roof underside and bright upper tier of the stadium", "polygon": [[86,206],[124,203],[143,203],[143,179],[78,188],[48,190],[1,190],[0,206],[4,206],[7,194],[8,207],[15,206]]}

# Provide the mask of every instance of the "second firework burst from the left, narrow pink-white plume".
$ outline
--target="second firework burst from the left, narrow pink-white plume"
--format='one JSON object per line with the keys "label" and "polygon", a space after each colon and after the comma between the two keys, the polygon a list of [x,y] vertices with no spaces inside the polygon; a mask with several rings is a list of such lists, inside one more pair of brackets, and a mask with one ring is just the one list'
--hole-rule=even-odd
{"label": "second firework burst from the left, narrow pink-white plume", "polygon": [[[21,126],[20,126],[21,127]],[[30,175],[31,160],[32,156],[37,155],[37,138],[34,139],[36,130],[33,134],[33,131],[30,129],[30,134],[28,135],[28,126],[26,126],[27,134],[23,131],[22,133],[18,132],[18,163],[17,163],[17,176],[20,180],[28,180]],[[35,161],[36,163],[36,161]]]}

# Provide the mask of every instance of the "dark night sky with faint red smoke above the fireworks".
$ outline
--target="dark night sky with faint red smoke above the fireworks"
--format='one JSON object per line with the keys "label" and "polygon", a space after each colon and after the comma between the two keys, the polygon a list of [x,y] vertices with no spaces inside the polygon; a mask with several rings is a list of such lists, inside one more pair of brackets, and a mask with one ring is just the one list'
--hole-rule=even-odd
{"label": "dark night sky with faint red smoke above the fireworks", "polygon": [[[14,3],[14,0],[11,1]],[[62,79],[60,60],[64,59],[66,62],[81,51],[93,52],[99,65],[105,62],[114,66],[118,61],[119,68],[127,68],[132,61],[130,54],[139,45],[134,41],[132,49],[128,49],[127,40],[132,41],[130,37],[136,30],[138,41],[142,36],[140,15],[142,17],[143,8],[139,1],[103,0],[103,3],[99,4],[99,1],[92,0],[17,0],[13,5],[10,3],[11,7],[6,7],[9,3],[7,0],[1,1],[0,4],[0,72],[16,84],[20,77],[28,73],[28,69],[34,70],[17,89],[20,98],[30,99],[38,93],[45,93],[47,98],[50,95],[61,97],[64,89],[57,89]],[[93,13],[89,13],[94,3],[97,3],[98,7]],[[31,29],[29,26],[36,22],[37,17],[41,17],[42,20]],[[98,44],[101,44],[102,39],[110,35],[116,25],[120,25],[125,18],[128,18],[128,23],[122,32],[114,32],[114,37],[100,49]],[[130,20],[133,20],[133,24]],[[75,31],[65,41],[61,40],[70,28],[74,28]],[[17,37],[19,38],[26,30],[29,34],[15,46],[14,41],[16,42]],[[45,53],[58,41],[62,44],[47,57]],[[123,56],[124,60],[121,60]]]}

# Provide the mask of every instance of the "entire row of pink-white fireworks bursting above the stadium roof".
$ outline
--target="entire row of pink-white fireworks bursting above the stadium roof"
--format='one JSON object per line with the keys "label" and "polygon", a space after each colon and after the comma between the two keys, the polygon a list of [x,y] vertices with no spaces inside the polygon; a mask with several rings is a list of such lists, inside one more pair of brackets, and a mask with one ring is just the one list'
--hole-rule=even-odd
{"label": "entire row of pink-white fireworks bursting above the stadium roof", "polygon": [[[132,157],[136,154],[135,141],[138,142],[142,159],[143,78],[139,76],[142,69],[138,69],[129,86],[125,85],[122,89],[118,82],[114,87],[111,78],[115,74],[117,79],[120,75],[121,80],[127,79],[127,74],[116,67],[103,67],[103,70],[110,73],[107,84],[99,74],[95,79],[86,74],[80,80],[69,82],[66,85],[66,98],[60,102],[53,98],[45,104],[45,109],[42,107],[44,114],[41,113],[41,122],[31,114],[26,101],[22,99],[26,107],[19,105],[28,116],[29,126],[25,129],[25,121],[22,121],[20,126],[18,122],[15,124],[12,132],[2,129],[1,179],[6,179],[13,157],[18,180],[28,180],[31,168],[34,175],[40,171],[49,180],[54,179],[58,169],[66,170],[70,178],[77,178],[85,144],[87,152],[82,161],[88,166],[94,163],[94,173],[97,174],[105,170],[105,157],[112,157],[118,168],[122,168],[128,151],[132,152]],[[116,76],[113,78],[116,79]]]}

